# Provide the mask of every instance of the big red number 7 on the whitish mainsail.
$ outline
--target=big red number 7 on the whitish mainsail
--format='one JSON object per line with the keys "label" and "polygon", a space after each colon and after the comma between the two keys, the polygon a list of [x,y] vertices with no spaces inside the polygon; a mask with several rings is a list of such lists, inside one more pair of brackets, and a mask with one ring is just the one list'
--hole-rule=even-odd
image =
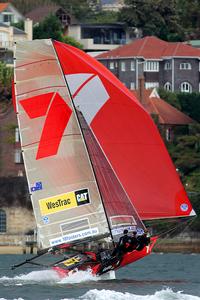
{"label": "big red number 7 on the whitish mainsail", "polygon": [[30,119],[46,116],[36,159],[56,155],[72,109],[59,93],[46,93],[20,101]]}

